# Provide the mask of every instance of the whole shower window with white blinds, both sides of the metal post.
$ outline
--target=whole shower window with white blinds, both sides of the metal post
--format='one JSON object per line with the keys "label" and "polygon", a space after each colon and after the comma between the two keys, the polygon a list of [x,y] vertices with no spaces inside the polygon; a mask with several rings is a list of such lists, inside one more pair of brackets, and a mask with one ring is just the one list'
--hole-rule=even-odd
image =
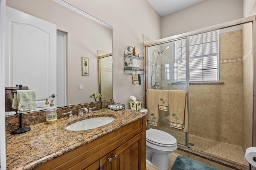
{"label": "whole shower window with white blinds, both sides of the metal post", "polygon": [[[182,39],[183,40],[183,39]],[[183,62],[186,56],[186,42],[175,41],[176,82],[186,80]],[[185,56],[183,57],[185,53]],[[218,82],[219,81],[219,30],[189,37],[189,81]],[[185,64],[184,64],[185,63]],[[180,73],[180,71],[182,73]]]}

